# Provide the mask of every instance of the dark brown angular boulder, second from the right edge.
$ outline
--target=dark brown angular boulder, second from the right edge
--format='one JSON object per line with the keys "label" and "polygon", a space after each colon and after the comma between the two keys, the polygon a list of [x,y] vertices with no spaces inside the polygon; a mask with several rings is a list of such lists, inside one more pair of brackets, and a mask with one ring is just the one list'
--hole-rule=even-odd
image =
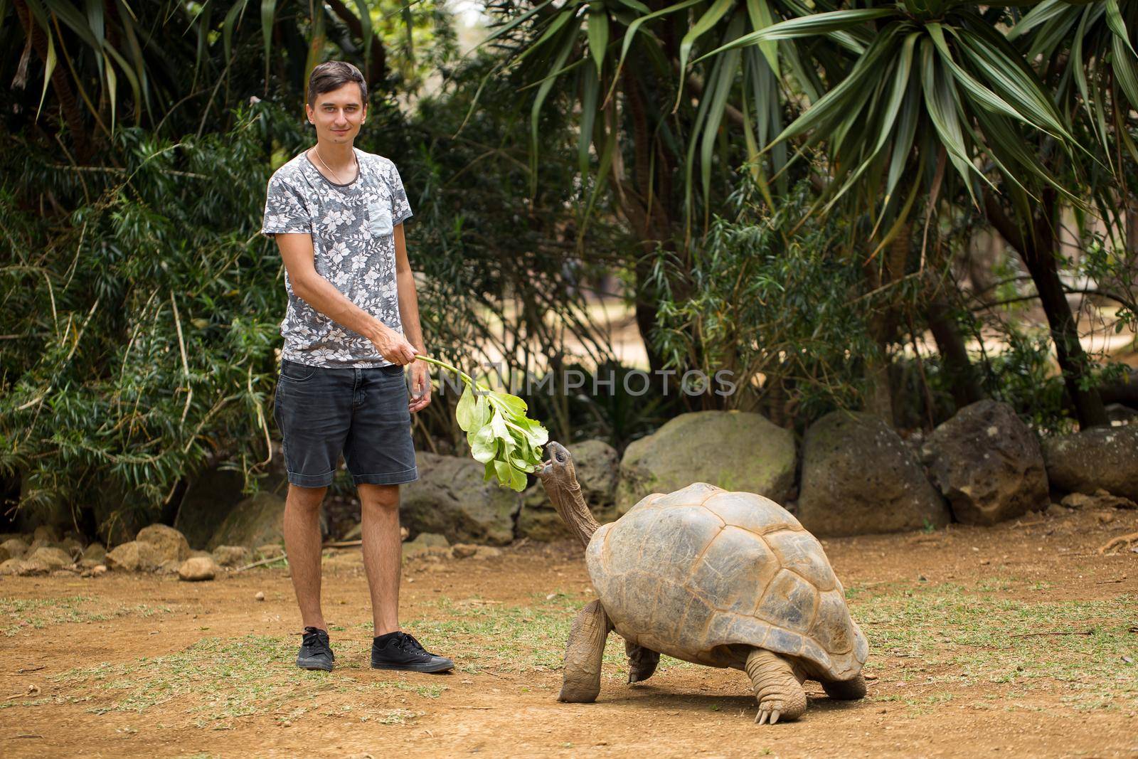
{"label": "dark brown angular boulder, second from the right edge", "polygon": [[957,521],[995,525],[1050,503],[1039,440],[1006,403],[965,406],[933,430],[921,456]]}

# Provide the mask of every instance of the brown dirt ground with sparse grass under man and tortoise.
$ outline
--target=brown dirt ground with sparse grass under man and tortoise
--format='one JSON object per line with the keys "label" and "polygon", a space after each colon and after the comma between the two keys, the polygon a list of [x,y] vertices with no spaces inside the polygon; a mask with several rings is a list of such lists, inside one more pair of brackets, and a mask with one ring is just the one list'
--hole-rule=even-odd
{"label": "brown dirt ground with sparse grass under man and tortoise", "polygon": [[[354,551],[325,558],[337,668],[303,673],[287,569],[212,583],[109,574],[0,580],[0,756],[1138,756],[1138,553],[1099,555],[1138,512],[830,539],[869,640],[868,696],[808,683],[798,723],[758,726],[745,675],[663,660],[563,704],[579,548],[414,560],[404,627],[451,675],[371,670]],[[256,601],[262,592],[264,601]]]}

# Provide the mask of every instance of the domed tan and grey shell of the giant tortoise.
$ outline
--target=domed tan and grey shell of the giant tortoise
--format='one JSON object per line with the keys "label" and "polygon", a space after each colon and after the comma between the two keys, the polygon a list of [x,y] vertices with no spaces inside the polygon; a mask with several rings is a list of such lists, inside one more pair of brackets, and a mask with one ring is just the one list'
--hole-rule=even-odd
{"label": "domed tan and grey shell of the giant tortoise", "polygon": [[733,646],[756,646],[831,680],[865,663],[822,545],[761,495],[706,482],[649,495],[596,530],[586,561],[617,633],[653,651],[727,667],[740,661]]}

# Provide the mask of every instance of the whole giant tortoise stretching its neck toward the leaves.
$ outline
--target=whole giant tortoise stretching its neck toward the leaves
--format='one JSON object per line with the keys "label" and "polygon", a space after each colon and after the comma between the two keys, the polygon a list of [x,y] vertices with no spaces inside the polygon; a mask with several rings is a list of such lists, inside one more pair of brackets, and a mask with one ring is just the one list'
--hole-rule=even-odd
{"label": "whole giant tortoise stretching its neck toward the leaves", "polygon": [[612,629],[625,638],[629,683],[650,677],[661,653],[744,670],[759,724],[800,717],[806,679],[832,699],[865,695],[865,636],[818,541],[790,512],[753,493],[695,482],[653,493],[602,527],[569,452],[552,442],[545,452],[538,476],[586,545],[599,596],[574,620],[559,700],[596,700]]}

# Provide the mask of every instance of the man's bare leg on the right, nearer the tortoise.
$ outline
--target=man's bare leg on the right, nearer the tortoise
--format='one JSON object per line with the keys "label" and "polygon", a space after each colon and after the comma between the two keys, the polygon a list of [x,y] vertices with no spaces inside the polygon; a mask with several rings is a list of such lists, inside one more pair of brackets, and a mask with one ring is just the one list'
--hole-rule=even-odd
{"label": "man's bare leg on the right, nearer the tortoise", "polygon": [[363,566],[371,591],[376,636],[399,629],[399,486],[360,485]]}

